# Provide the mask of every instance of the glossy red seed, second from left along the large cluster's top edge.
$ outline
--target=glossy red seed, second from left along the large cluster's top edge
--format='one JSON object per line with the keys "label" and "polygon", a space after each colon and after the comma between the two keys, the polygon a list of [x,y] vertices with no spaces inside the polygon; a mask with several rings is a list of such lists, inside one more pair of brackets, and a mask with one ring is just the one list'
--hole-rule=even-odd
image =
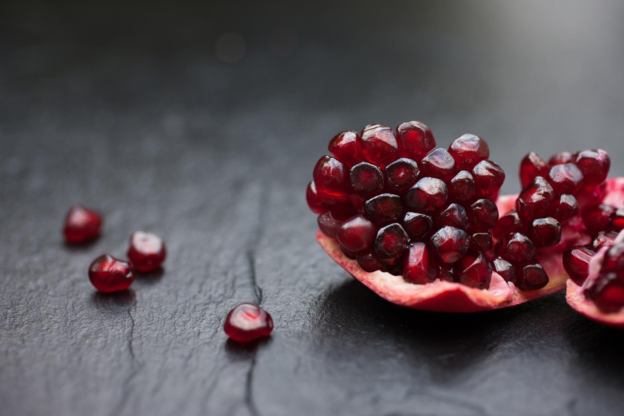
{"label": "glossy red seed, second from left along the large cluster's top edge", "polygon": [[369,124],[358,138],[361,154],[371,163],[385,168],[399,158],[399,143],[392,129],[381,124]]}

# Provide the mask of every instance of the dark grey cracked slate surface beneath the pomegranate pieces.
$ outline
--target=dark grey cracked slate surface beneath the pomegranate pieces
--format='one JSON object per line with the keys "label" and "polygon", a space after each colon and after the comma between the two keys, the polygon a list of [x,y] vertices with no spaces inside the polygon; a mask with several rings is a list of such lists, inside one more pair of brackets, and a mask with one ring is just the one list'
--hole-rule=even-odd
{"label": "dark grey cracked slate surface beneath the pomegranate pieces", "polygon": [[[622,4],[59,3],[0,11],[2,414],[622,414],[622,332],[563,294],[389,304],[323,253],[304,198],[329,138],[373,122],[481,135],[506,192],[529,150],[623,160]],[[62,243],[73,203],[105,214],[95,243]],[[90,261],[137,229],[166,239],[163,273],[96,293]],[[270,339],[227,341],[243,301]]]}

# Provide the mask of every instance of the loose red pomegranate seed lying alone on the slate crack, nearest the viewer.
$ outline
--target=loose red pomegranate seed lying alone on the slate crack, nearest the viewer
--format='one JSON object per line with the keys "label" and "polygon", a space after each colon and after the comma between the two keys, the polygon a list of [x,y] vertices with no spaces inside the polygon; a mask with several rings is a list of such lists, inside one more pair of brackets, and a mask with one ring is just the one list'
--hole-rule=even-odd
{"label": "loose red pomegranate seed lying alone on the slate crack, nearest the viewer", "polygon": [[241,303],[225,317],[223,331],[234,341],[249,342],[268,337],[273,331],[273,319],[260,306]]}

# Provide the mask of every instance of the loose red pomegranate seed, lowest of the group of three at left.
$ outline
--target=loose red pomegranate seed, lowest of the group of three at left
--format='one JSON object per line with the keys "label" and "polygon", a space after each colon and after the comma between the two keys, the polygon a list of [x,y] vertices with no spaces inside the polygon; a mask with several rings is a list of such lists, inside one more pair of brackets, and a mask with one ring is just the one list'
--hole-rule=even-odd
{"label": "loose red pomegranate seed, lowest of the group of three at left", "polygon": [[89,280],[100,292],[122,291],[134,282],[134,272],[126,261],[104,254],[89,266]]}

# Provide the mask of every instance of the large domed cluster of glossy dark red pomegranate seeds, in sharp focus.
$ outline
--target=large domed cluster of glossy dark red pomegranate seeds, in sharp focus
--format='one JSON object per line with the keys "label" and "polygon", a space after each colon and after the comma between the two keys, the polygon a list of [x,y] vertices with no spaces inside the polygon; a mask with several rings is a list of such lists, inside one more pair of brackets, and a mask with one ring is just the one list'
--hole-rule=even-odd
{"label": "large domed cluster of glossy dark red pomegranate seeds, in sharp focus", "polygon": [[[465,134],[436,148],[429,127],[374,124],[342,132],[316,163],[306,197],[319,229],[364,271],[489,287],[495,200],[505,173]],[[544,233],[542,233],[544,234]],[[510,278],[512,279],[512,278]],[[515,279],[515,276],[514,278]]]}

